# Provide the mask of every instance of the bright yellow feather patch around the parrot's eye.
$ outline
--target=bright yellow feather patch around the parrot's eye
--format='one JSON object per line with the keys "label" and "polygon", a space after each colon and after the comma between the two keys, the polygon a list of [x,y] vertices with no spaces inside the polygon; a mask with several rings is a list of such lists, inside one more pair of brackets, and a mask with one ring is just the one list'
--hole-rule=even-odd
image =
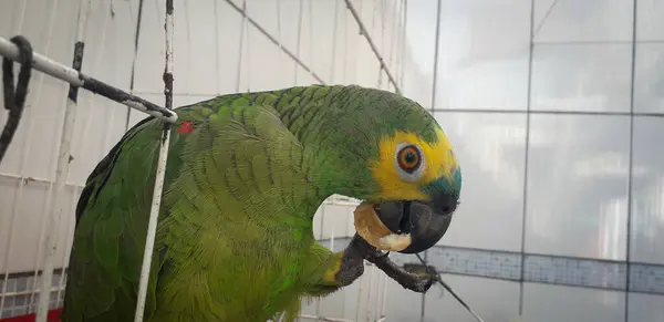
{"label": "bright yellow feather patch around the parrot's eye", "polygon": [[[437,141],[434,143],[406,132],[396,132],[393,136],[381,139],[381,157],[372,165],[373,176],[382,188],[381,194],[376,196],[377,199],[427,199],[428,197],[419,189],[422,183],[452,176],[452,169],[458,167],[452,144],[442,129],[437,128],[436,135]],[[404,143],[417,145],[423,154],[424,173],[416,181],[402,179],[395,163],[397,145]]]}

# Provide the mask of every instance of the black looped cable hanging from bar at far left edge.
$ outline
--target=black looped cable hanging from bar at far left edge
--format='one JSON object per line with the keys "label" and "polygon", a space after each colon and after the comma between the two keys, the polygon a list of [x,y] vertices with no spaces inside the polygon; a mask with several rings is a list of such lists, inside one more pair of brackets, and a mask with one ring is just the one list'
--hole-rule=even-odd
{"label": "black looped cable hanging from bar at far left edge", "polygon": [[4,108],[9,111],[4,128],[0,135],[0,163],[4,158],[4,153],[9,148],[11,141],[19,127],[21,116],[23,115],[23,105],[28,95],[28,84],[32,75],[32,45],[22,35],[15,35],[10,39],[19,48],[19,80],[14,89],[13,62],[2,59],[2,87],[4,91]]}

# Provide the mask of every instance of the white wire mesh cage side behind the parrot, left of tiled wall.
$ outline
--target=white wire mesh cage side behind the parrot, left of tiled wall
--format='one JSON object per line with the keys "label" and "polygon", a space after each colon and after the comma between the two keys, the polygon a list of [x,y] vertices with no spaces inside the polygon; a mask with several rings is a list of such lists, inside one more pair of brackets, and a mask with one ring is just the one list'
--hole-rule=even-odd
{"label": "white wire mesh cage side behind the parrot, left of tiled wall", "polygon": [[[54,62],[73,61],[70,76],[76,70],[93,75],[145,104],[162,105],[166,92],[167,108],[227,93],[312,83],[398,92],[404,76],[419,76],[417,71],[404,74],[404,64],[413,60],[404,45],[404,0],[11,0],[1,7],[1,37],[24,35],[35,53]],[[48,63],[35,60],[35,67],[44,72]],[[85,179],[151,111],[90,91],[72,94],[73,85],[81,85],[75,77],[70,85],[53,77],[54,71],[42,72],[33,75],[21,126],[0,164],[0,319],[37,313],[38,321],[56,320],[73,212]],[[164,89],[165,73],[175,80],[172,90]],[[159,194],[156,188],[155,196]],[[356,205],[341,196],[329,198],[317,212],[315,238],[342,249],[354,232]],[[44,288],[50,297],[40,297]],[[419,318],[418,308],[412,316],[400,310],[392,318],[387,293],[400,302],[421,300],[367,266],[343,291],[304,303],[300,319]]]}

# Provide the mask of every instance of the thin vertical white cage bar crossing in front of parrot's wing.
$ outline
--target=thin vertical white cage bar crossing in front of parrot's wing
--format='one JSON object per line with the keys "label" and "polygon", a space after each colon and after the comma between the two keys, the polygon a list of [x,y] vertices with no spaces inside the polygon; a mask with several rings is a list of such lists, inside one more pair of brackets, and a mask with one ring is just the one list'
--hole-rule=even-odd
{"label": "thin vertical white cage bar crossing in front of parrot's wing", "polygon": [[[173,108],[173,1],[166,0],[166,66],[164,69],[164,96],[166,108]],[[168,111],[170,112],[170,111]],[[147,237],[145,239],[145,251],[143,252],[143,266],[141,267],[141,280],[138,284],[138,298],[136,301],[136,312],[134,322],[143,321],[145,311],[145,299],[147,297],[147,285],[149,282],[149,271],[155,247],[155,237],[157,235],[157,219],[159,218],[159,208],[162,206],[162,193],[164,190],[164,175],[166,173],[166,163],[168,160],[168,143],[170,142],[170,126],[164,127],[164,134],[160,139],[159,157],[157,159],[157,173],[155,175],[155,187],[153,191],[152,207],[149,209],[149,221],[147,225]]]}

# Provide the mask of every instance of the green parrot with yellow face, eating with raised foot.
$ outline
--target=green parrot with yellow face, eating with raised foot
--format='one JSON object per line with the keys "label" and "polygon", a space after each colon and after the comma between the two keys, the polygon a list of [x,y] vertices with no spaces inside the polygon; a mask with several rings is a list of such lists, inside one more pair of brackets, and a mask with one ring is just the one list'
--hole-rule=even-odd
{"label": "green parrot with yellow face, eating with raised foot", "polygon": [[[352,283],[380,249],[357,235],[339,252],[315,241],[313,217],[331,195],[371,205],[390,236],[408,236],[403,253],[433,247],[457,207],[453,147],[402,95],[311,85],[174,111],[144,321],[294,321],[302,299]],[[87,178],[63,322],[133,321],[164,126],[136,124]]]}

